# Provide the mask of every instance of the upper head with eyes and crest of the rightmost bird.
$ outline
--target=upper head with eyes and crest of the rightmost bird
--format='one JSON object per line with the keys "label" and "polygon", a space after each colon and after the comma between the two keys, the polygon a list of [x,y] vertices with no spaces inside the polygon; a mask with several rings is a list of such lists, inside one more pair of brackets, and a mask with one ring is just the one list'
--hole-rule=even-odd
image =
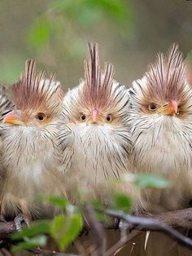
{"label": "upper head with eyes and crest of the rightmost bird", "polygon": [[171,105],[171,113],[176,107],[177,113],[185,113],[185,103],[192,96],[185,74],[182,54],[174,44],[168,55],[157,55],[155,64],[151,64],[141,80],[133,82],[130,92],[133,97],[136,95],[134,98],[144,113],[162,113],[166,105]]}

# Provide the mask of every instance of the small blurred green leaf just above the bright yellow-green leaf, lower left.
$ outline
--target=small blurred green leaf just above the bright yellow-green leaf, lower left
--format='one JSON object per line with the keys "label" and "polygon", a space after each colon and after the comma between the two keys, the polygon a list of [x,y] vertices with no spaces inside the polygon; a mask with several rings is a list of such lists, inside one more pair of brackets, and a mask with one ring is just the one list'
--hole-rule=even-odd
{"label": "small blurred green leaf just above the bright yellow-green leaf, lower left", "polygon": [[67,199],[61,196],[35,196],[35,201],[55,205],[63,210],[68,206]]}

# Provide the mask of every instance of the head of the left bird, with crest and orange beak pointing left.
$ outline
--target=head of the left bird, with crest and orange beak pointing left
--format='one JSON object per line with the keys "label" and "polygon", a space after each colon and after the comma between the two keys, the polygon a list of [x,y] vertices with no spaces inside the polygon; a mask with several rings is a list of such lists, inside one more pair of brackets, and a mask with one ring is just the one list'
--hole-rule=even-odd
{"label": "head of the left bird, with crest and orange beak pointing left", "polygon": [[62,102],[62,89],[55,76],[44,79],[35,62],[28,60],[18,82],[13,86],[15,110],[3,122],[12,126],[45,127],[57,117]]}

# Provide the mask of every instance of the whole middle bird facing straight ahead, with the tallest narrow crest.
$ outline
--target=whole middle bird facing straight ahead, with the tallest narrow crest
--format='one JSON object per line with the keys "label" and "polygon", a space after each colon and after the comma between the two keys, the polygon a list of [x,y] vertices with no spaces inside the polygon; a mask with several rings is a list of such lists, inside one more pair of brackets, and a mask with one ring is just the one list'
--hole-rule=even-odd
{"label": "whole middle bird facing straight ahead, with the tallest narrow crest", "polygon": [[131,148],[127,127],[129,91],[113,79],[113,66],[102,72],[98,44],[89,43],[85,78],[63,99],[59,123],[63,146],[65,184],[70,199],[75,192],[107,200],[107,180],[127,173]]}

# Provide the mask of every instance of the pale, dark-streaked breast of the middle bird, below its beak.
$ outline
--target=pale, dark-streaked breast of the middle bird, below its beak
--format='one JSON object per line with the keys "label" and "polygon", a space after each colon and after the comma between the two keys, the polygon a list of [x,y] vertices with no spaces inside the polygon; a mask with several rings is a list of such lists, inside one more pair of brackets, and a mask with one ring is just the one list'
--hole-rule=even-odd
{"label": "pale, dark-streaked breast of the middle bird, below its beak", "polygon": [[78,183],[105,183],[106,179],[119,179],[127,171],[128,155],[124,148],[128,148],[128,140],[118,135],[120,131],[85,123],[72,125],[71,129],[72,145],[66,148],[72,148],[72,169],[76,173],[72,176],[78,176]]}

